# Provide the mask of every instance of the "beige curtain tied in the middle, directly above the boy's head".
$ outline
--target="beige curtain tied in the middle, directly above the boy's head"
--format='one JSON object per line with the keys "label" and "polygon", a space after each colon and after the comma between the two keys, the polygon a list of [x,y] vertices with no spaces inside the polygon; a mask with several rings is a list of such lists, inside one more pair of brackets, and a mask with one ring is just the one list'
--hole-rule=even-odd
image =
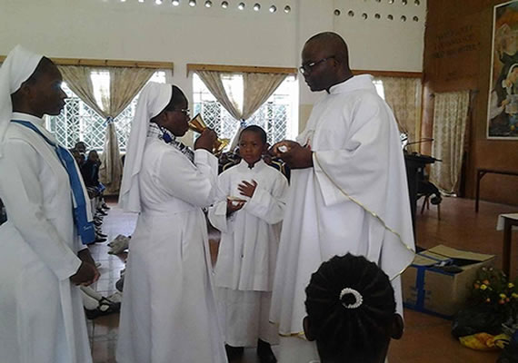
{"label": "beige curtain tied in the middle, directly above the boy's head", "polygon": [[[287,74],[259,74],[239,73],[243,75],[243,90],[233,89],[230,83],[225,84],[225,79],[234,74],[218,71],[196,71],[216,100],[221,103],[226,111],[236,120],[244,121],[252,116],[275,90],[284,82]],[[238,87],[236,87],[238,88]],[[240,92],[241,91],[241,92]],[[231,149],[234,150],[237,143],[237,135],[243,129],[239,127]]]}

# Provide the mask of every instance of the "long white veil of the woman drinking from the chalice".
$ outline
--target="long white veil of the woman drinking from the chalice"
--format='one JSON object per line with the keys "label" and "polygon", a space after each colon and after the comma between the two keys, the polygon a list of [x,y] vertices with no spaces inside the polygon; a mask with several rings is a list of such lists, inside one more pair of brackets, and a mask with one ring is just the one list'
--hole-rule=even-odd
{"label": "long white veil of the woman drinking from the chalice", "polygon": [[119,196],[119,205],[125,211],[141,211],[138,174],[142,169],[149,120],[161,113],[171,101],[172,89],[171,84],[147,83],[138,97],[126,147],[125,169]]}

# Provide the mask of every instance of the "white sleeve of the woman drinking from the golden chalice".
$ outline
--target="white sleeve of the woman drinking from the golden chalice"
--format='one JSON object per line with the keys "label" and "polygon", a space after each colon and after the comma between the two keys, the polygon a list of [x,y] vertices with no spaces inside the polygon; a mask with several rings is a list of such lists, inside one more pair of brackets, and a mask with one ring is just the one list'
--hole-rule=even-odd
{"label": "white sleeve of the woman drinking from the golden chalice", "polygon": [[165,152],[160,161],[158,178],[172,196],[206,207],[217,194],[217,158],[203,149],[194,151],[194,164],[178,152]]}

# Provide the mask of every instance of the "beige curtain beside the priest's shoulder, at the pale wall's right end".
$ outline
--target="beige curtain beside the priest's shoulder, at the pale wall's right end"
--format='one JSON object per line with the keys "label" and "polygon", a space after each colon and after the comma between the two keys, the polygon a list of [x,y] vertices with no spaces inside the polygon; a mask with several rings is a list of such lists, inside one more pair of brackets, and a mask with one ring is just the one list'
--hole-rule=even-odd
{"label": "beige curtain beside the priest's shoulder, at the pale wall's right end", "polygon": [[[385,101],[393,110],[399,131],[408,135],[408,142],[421,138],[421,78],[379,77],[384,84]],[[409,145],[409,152],[418,152],[419,144]]]}

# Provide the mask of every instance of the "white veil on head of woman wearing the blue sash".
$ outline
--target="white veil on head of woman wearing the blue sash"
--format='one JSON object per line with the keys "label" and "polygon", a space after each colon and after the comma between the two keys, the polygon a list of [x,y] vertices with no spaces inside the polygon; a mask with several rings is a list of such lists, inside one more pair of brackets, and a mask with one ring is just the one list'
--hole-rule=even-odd
{"label": "white veil on head of woman wearing the blue sash", "polygon": [[43,55],[34,54],[21,45],[16,45],[5,58],[0,68],[0,158],[4,143],[5,131],[11,122],[13,104],[11,94],[18,91],[40,63]]}

